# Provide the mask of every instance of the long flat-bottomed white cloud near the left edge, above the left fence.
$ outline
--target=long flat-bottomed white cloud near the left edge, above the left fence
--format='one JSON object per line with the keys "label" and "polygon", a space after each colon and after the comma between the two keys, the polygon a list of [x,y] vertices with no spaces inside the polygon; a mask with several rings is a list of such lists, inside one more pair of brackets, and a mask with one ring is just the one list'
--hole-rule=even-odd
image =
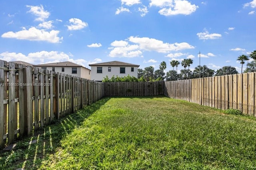
{"label": "long flat-bottomed white cloud near the left edge, above the left fence", "polygon": [[6,32],[2,34],[2,38],[16,38],[18,40],[30,40],[30,41],[46,41],[50,43],[60,43],[62,38],[58,37],[60,31],[52,30],[47,32],[45,30],[38,30],[35,27],[23,28],[18,32]]}

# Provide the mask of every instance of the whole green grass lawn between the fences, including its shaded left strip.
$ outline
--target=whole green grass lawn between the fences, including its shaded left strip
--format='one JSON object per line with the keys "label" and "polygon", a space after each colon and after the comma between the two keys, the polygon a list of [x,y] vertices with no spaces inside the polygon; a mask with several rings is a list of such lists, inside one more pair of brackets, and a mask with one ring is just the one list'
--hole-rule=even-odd
{"label": "whole green grass lawn between the fences, including its shaded left strip", "polygon": [[0,169],[16,168],[256,169],[256,119],[164,96],[105,98],[0,152]]}

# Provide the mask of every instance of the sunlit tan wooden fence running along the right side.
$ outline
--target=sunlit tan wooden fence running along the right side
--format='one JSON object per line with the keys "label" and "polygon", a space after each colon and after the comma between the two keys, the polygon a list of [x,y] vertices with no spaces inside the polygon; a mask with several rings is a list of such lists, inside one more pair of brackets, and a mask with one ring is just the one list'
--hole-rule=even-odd
{"label": "sunlit tan wooden fence running along the right side", "polygon": [[245,115],[256,116],[256,73],[242,73],[166,81],[164,94],[217,109],[239,109]]}

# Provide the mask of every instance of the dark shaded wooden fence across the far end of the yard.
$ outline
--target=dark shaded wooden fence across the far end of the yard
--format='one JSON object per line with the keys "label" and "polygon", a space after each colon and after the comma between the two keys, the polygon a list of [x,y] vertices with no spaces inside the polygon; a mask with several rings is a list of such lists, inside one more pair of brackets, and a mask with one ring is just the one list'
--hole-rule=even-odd
{"label": "dark shaded wooden fence across the far end of the yard", "polygon": [[164,94],[164,81],[105,82],[105,96],[154,96]]}

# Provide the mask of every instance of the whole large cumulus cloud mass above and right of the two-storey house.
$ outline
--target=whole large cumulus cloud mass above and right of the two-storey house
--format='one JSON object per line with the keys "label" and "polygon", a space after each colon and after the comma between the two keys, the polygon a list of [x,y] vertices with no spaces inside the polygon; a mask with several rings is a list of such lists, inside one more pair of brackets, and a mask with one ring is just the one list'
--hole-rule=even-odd
{"label": "whole large cumulus cloud mass above and right of the two-storey house", "polygon": [[[170,51],[179,51],[183,49],[194,49],[194,47],[186,42],[182,43],[164,43],[160,40],[148,37],[130,36],[127,41],[114,41],[111,43],[110,57],[139,57],[142,51],[156,51],[158,53],[168,53]],[[129,44],[133,43],[133,44]],[[177,54],[176,54],[177,55]]]}

